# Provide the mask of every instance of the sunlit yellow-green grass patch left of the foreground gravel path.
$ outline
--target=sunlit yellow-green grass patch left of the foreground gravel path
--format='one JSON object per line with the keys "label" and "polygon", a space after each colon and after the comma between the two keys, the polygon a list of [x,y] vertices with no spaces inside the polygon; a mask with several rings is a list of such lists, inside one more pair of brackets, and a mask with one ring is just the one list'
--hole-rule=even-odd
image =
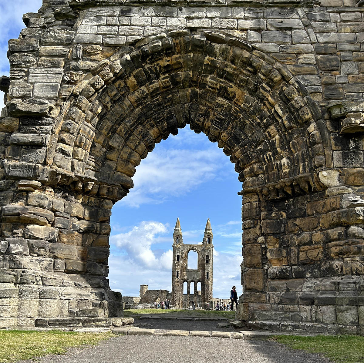
{"label": "sunlit yellow-green grass patch left of the foreground gravel path", "polygon": [[17,362],[48,354],[63,354],[70,347],[95,345],[100,340],[111,338],[111,332],[76,333],[51,331],[0,331],[0,362]]}

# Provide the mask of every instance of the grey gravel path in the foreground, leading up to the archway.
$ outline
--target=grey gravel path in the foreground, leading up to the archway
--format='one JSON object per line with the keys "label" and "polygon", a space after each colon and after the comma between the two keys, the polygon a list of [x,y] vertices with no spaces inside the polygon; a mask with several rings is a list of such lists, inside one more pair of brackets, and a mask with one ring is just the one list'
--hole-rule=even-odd
{"label": "grey gravel path in the foreground, leading up to the archway", "polygon": [[[37,363],[330,363],[317,354],[287,349],[267,340],[194,336],[118,336],[96,347],[72,348]],[[25,361],[23,361],[25,363]]]}

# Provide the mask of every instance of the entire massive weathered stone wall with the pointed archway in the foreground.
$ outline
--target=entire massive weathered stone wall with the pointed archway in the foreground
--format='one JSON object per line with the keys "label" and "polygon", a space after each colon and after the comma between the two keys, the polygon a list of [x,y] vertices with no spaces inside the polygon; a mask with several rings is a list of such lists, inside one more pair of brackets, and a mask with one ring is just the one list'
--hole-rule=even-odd
{"label": "entire massive weathered stone wall with the pointed archway in the foreground", "polygon": [[[237,318],[361,332],[363,113],[342,101],[355,89],[345,69],[361,69],[361,54],[343,61],[362,26],[347,14],[361,13],[296,5],[50,1],[25,17],[2,82],[3,326],[122,315],[107,280],[111,207],[155,143],[189,124],[243,182]],[[315,34],[323,19],[337,33]]]}

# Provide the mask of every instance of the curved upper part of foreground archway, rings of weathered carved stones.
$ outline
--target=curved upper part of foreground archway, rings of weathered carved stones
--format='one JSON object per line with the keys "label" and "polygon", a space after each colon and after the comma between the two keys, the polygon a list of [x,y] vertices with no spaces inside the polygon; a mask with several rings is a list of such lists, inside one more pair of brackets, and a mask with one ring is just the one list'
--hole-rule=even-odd
{"label": "curved upper part of foreground archway, rings of weathered carved stones", "polygon": [[[73,181],[86,191],[93,180],[114,180],[119,193],[115,199],[122,198],[132,187],[140,159],[189,123],[230,155],[246,186],[286,179],[278,190],[261,190],[278,198],[292,195],[292,188],[320,189],[309,174],[325,166],[316,124],[321,113],[302,85],[281,64],[238,39],[183,32],[185,36],[115,54],[85,77],[59,119],[50,183],[54,176],[57,183]],[[128,145],[132,140],[137,142],[134,149]],[[117,170],[108,168],[118,161]],[[66,175],[60,176],[65,169]],[[290,179],[297,175],[302,177],[293,187]]]}

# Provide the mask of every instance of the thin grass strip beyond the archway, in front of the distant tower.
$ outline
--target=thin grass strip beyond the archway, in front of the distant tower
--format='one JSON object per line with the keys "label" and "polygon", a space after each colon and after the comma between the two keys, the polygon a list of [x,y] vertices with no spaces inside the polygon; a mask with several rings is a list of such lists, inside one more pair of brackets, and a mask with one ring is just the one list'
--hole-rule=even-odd
{"label": "thin grass strip beyond the archway, in front of the distant tower", "polygon": [[135,315],[162,315],[168,314],[171,316],[191,316],[195,318],[235,318],[235,311],[223,311],[223,310],[164,310],[164,309],[125,309],[124,316]]}

